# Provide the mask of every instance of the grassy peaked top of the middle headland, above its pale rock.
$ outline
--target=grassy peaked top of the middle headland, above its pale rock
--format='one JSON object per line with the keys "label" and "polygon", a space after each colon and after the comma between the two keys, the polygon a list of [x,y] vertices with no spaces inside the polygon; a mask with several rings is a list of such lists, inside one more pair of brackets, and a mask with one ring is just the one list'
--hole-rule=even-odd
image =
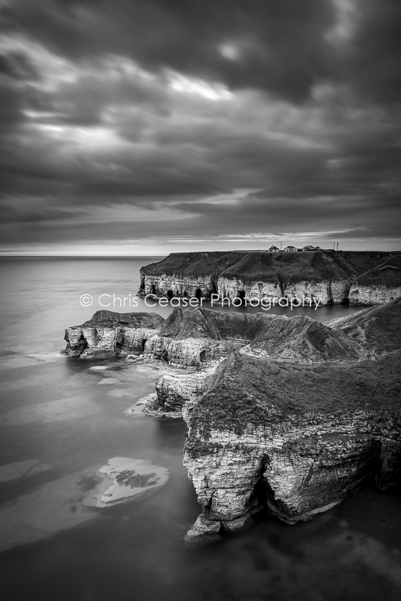
{"label": "grassy peaked top of the middle headland, above its pale rock", "polygon": [[174,308],[167,320],[157,313],[100,310],[78,327],[153,329],[175,340],[235,342],[231,349],[242,341],[245,354],[286,361],[358,361],[401,349],[401,298],[326,324],[304,314],[221,313],[198,307]]}

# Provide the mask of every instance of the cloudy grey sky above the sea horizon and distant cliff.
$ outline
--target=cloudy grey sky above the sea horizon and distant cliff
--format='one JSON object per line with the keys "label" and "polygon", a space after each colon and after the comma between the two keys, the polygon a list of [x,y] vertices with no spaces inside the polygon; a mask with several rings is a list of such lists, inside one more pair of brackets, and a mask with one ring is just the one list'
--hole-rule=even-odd
{"label": "cloudy grey sky above the sea horizon and distant cliff", "polygon": [[400,0],[0,0],[0,253],[401,250]]}

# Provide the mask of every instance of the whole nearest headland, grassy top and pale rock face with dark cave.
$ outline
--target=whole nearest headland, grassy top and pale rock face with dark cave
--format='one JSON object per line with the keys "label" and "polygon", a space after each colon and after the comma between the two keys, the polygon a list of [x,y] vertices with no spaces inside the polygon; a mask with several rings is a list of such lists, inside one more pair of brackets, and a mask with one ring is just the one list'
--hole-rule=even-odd
{"label": "whole nearest headland, grassy top and pale rock face with dark cave", "polygon": [[233,354],[185,409],[184,464],[203,508],[188,535],[268,506],[286,523],[334,506],[361,479],[401,484],[401,353],[319,366]]}

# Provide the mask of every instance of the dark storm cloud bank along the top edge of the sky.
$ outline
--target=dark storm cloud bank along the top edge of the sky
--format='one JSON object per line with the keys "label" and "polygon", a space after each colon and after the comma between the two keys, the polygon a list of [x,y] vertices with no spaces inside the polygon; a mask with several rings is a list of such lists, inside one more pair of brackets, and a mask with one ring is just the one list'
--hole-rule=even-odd
{"label": "dark storm cloud bank along the top edge of the sky", "polygon": [[149,70],[170,67],[297,102],[331,70],[329,0],[21,0],[5,15],[14,31],[72,59],[122,54]]}

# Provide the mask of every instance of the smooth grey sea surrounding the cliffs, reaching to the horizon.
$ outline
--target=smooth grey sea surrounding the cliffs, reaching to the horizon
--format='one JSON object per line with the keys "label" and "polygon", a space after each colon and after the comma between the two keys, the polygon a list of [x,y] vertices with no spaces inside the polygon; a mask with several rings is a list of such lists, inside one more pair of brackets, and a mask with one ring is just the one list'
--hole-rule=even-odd
{"label": "smooth grey sea surrounding the cliffs, reaching to the horizon", "polygon": [[[134,298],[139,268],[160,258],[0,260],[1,599],[400,600],[401,497],[373,482],[309,522],[260,513],[243,531],[185,541],[200,513],[182,466],[185,423],[126,413],[165,368],[60,355],[66,327],[105,308],[100,297]],[[107,308],[155,310],[118,304]],[[156,310],[167,317],[171,307]],[[274,313],[325,321],[354,310]],[[114,457],[150,462],[168,479],[122,503],[86,504],[93,474]]]}

